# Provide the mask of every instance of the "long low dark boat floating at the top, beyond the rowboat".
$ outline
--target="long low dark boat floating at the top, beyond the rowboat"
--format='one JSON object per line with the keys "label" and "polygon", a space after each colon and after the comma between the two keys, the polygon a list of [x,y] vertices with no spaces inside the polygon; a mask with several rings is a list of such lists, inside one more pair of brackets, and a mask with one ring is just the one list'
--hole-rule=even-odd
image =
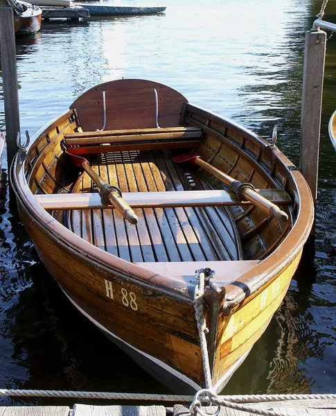
{"label": "long low dark boat floating at the top, beyond the rowboat", "polygon": [[162,13],[166,7],[144,6],[114,6],[109,3],[73,3],[89,10],[90,16],[125,16],[125,15],[155,15]]}

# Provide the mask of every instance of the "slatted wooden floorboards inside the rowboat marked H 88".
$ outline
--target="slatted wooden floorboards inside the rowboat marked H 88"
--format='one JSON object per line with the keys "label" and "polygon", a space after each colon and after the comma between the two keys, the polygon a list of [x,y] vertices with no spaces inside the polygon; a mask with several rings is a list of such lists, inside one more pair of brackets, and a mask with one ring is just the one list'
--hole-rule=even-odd
{"label": "slatted wooden floorboards inside the rowboat marked H 88", "polygon": [[[92,168],[122,192],[188,189],[184,166],[162,151],[102,155]],[[193,173],[195,175],[195,173]],[[197,181],[200,189],[204,189]],[[95,187],[87,174],[76,193]],[[71,230],[89,243],[133,262],[218,261],[240,259],[236,232],[224,207],[136,208],[139,223],[127,223],[116,209],[69,213]]]}

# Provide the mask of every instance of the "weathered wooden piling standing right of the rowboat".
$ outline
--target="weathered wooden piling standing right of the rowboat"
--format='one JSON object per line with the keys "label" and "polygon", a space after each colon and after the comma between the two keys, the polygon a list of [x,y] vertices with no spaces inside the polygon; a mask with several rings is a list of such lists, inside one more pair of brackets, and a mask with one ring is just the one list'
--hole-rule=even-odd
{"label": "weathered wooden piling standing right of the rowboat", "polygon": [[[307,32],[303,65],[300,171],[309,184],[315,202],[325,58],[326,32],[320,30]],[[315,229],[311,235],[314,234]]]}

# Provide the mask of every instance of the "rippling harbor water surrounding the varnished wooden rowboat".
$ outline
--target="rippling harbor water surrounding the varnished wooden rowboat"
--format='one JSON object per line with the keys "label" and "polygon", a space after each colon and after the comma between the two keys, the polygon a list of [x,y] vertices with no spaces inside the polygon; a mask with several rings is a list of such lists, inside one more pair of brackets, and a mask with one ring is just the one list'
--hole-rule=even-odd
{"label": "rippling harbor water surrounding the varnished wooden rowboat", "polygon": [[[146,1],[167,6],[160,15],[50,21],[18,38],[21,132],[32,134],[94,85],[143,78],[266,139],[278,125],[278,147],[299,165],[304,40],[321,1],[164,1]],[[325,18],[336,23],[335,2]],[[315,254],[223,394],[336,393],[335,91],[336,35],[328,33]],[[2,84],[0,102],[5,130]],[[69,304],[17,217],[6,155],[2,169],[0,388],[169,393]],[[0,397],[2,406],[56,403],[72,402]]]}

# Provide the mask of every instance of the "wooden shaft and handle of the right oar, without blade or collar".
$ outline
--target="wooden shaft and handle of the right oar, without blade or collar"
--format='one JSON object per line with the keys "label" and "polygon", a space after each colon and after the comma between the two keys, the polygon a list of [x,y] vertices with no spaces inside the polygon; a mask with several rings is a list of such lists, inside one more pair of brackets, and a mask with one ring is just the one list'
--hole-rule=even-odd
{"label": "wooden shaft and handle of the right oar, without blade or collar", "polygon": [[[200,157],[196,157],[193,160],[193,163],[197,164],[201,168],[204,168],[205,171],[208,171],[226,185],[231,186],[231,184],[233,184],[233,182],[236,181],[233,177],[220,171],[218,168],[215,168],[214,166],[211,166],[211,164],[204,162],[204,160],[200,159]],[[250,189],[248,187],[242,187],[240,194],[245,199],[251,201],[254,205],[256,205],[256,207],[263,209],[263,211],[266,211],[267,214],[269,214],[270,216],[274,216],[275,218],[281,221],[288,221],[288,215],[285,213],[285,211],[282,211],[273,202],[259,195],[253,189]]]}

